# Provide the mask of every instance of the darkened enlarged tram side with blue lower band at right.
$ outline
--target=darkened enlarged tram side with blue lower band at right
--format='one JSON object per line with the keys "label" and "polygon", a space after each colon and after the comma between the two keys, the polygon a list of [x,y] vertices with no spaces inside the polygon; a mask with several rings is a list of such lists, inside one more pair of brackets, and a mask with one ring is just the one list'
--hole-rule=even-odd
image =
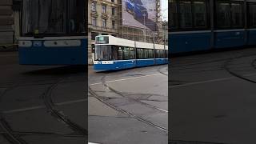
{"label": "darkened enlarged tram side with blue lower band at right", "polygon": [[170,0],[171,53],[256,45],[256,0]]}

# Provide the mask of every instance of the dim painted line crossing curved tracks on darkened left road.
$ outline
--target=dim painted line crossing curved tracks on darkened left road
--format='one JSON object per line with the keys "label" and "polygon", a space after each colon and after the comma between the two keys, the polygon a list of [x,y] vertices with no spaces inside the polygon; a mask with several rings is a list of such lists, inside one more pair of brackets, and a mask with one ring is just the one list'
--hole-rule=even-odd
{"label": "dim painted line crossing curved tracks on darkened left road", "polygon": [[[83,99],[78,99],[78,100],[74,100],[74,101],[58,102],[58,103],[54,103],[54,104],[57,106],[64,106],[64,105],[68,105],[68,104],[74,104],[74,103],[86,102],[86,101],[87,101],[87,99],[83,98]],[[24,111],[28,111],[28,110],[38,110],[38,109],[43,109],[43,108],[46,108],[46,106],[31,106],[31,107],[26,107],[26,108],[21,108],[21,109],[5,110],[2,113],[3,114],[12,114],[12,113],[24,112]]]}

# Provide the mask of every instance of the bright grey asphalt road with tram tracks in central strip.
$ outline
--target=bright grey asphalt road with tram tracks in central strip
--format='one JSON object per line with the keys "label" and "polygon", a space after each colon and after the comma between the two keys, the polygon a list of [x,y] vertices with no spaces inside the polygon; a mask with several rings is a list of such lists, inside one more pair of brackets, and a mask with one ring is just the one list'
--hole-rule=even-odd
{"label": "bright grey asphalt road with tram tracks in central strip", "polygon": [[89,68],[89,141],[168,143],[167,65],[95,73]]}

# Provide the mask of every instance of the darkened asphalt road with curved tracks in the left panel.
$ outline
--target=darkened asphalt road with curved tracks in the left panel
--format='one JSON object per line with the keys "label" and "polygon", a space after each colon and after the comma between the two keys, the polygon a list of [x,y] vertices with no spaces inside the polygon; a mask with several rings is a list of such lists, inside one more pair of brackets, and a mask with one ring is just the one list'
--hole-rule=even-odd
{"label": "darkened asphalt road with curved tracks in the left panel", "polygon": [[0,53],[0,143],[85,143],[85,66],[20,66]]}

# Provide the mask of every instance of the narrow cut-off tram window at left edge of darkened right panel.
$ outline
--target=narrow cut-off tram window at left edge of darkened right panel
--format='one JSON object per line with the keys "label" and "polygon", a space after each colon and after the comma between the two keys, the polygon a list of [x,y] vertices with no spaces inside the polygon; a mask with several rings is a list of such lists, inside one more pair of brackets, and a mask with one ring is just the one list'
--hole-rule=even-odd
{"label": "narrow cut-off tram window at left edge of darkened right panel", "polygon": [[171,0],[169,2],[169,7],[170,7],[170,29],[176,29],[178,27],[177,2],[174,0]]}

